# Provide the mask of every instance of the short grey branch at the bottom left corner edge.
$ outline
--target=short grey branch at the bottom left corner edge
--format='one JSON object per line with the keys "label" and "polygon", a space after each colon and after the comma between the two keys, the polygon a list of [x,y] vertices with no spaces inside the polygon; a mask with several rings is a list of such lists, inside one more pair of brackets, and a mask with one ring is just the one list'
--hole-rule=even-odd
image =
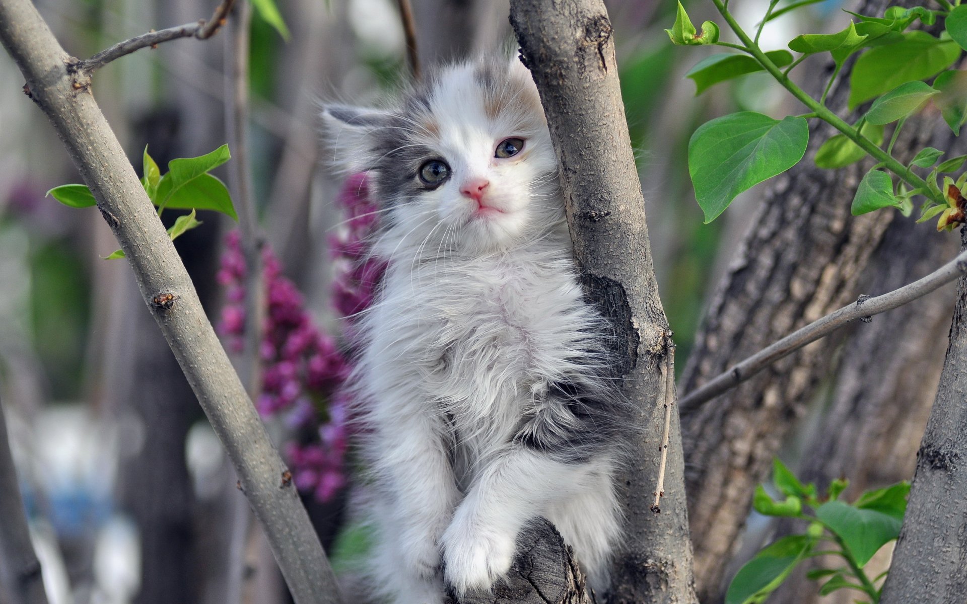
{"label": "short grey branch at the bottom left corner edge", "polygon": [[41,562],[30,542],[23,496],[16,479],[14,457],[7,434],[7,420],[0,405],[0,577],[10,584],[17,601],[47,604]]}

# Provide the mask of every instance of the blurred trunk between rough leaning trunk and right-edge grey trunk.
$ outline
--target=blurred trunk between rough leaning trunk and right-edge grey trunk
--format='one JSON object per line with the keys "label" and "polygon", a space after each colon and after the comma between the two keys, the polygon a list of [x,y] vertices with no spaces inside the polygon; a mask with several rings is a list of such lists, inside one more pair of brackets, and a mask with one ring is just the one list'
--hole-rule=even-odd
{"label": "blurred trunk between rough leaning trunk and right-edge grey trunk", "polygon": [[[942,144],[937,147],[946,148]],[[862,291],[885,292],[905,285],[949,261],[956,248],[952,237],[933,233],[912,218],[896,214],[867,265]],[[950,330],[953,289],[951,284],[874,317],[871,325],[856,327],[839,353],[841,363],[829,408],[805,439],[798,475],[817,482],[821,490],[834,478],[848,478],[847,500],[866,489],[910,479],[933,403],[933,385],[940,379],[944,364],[944,351],[937,343]],[[782,535],[793,527],[802,530],[803,524],[779,526]],[[877,556],[867,564],[866,574],[875,576],[886,569],[886,564],[889,556]],[[851,603],[855,594],[849,590],[821,598],[820,584],[806,579],[810,568],[834,565],[841,565],[841,560],[802,564],[770,602]]]}

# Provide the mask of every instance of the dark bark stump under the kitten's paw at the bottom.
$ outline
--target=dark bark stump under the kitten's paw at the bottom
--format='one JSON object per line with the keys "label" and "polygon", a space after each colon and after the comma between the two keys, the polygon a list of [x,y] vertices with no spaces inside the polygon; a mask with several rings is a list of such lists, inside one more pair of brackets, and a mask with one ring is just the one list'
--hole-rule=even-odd
{"label": "dark bark stump under the kitten's paw at the bottom", "polygon": [[546,520],[517,536],[517,555],[507,578],[490,593],[469,595],[459,604],[592,604],[584,574],[571,548]]}

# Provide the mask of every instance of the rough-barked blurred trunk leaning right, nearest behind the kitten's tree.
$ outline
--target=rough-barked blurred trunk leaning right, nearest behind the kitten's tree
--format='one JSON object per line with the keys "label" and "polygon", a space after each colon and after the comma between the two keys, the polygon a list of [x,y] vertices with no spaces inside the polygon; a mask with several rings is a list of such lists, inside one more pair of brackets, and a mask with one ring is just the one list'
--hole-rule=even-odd
{"label": "rough-barked blurred trunk leaning right, nearest behind the kitten's tree", "polygon": [[[858,10],[880,14],[887,4],[868,0]],[[827,102],[840,113],[848,67]],[[904,143],[919,148],[926,142],[928,132],[912,122],[905,132],[911,137],[901,140],[900,149]],[[892,216],[850,216],[850,199],[868,162],[837,171],[813,164],[816,148],[835,133],[826,125],[811,129],[806,159],[769,187],[718,284],[682,391],[865,293],[858,288],[860,277]],[[724,568],[740,542],[752,490],[768,476],[785,434],[828,374],[839,341],[810,344],[718,399],[682,409],[695,577],[703,602],[721,598]]]}

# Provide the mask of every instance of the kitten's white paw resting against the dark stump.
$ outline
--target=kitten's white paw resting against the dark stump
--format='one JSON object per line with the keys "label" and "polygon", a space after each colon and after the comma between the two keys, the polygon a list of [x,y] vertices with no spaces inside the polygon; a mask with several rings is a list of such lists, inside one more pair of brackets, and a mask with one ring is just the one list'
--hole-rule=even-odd
{"label": "kitten's white paw resting against the dark stump", "polygon": [[489,590],[511,568],[513,534],[454,520],[443,534],[443,573],[459,596]]}

